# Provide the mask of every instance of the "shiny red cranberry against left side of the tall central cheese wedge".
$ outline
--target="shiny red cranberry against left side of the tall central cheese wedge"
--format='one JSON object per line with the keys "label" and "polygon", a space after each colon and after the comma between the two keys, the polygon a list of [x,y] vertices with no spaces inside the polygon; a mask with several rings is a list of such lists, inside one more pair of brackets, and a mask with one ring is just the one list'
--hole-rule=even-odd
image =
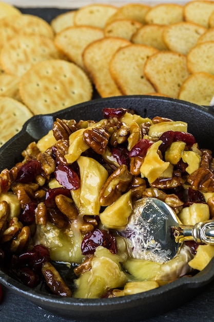
{"label": "shiny red cranberry against left side of the tall central cheese wedge", "polygon": [[54,171],[56,180],[66,189],[80,188],[80,180],[76,172],[65,164],[59,164]]}

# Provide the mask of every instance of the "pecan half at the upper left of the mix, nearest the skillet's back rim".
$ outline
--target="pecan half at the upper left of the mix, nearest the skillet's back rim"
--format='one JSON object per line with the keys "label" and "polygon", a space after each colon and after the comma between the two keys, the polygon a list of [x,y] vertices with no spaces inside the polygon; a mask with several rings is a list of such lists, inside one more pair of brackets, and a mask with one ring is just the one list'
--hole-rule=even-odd
{"label": "pecan half at the upper left of the mix, nearest the skillet's back rim", "polygon": [[76,121],[56,118],[53,122],[53,136],[57,140],[68,140],[71,133],[77,130]]}

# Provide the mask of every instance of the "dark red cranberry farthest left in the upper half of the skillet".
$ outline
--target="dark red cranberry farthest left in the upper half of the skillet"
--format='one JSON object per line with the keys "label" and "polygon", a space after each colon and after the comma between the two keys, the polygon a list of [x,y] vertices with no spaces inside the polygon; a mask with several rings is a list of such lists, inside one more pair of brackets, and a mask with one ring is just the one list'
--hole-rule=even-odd
{"label": "dark red cranberry farthest left in the upper half of the skillet", "polygon": [[29,183],[42,171],[41,163],[37,160],[29,160],[18,168],[16,182]]}

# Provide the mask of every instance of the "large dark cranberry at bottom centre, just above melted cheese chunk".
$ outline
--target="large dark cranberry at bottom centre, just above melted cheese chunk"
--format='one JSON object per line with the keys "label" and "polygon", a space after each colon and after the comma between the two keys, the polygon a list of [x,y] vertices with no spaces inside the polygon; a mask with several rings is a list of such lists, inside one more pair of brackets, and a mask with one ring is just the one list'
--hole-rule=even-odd
{"label": "large dark cranberry at bottom centre, just above melted cheese chunk", "polygon": [[107,230],[95,229],[90,231],[82,241],[81,249],[83,255],[94,254],[98,246],[103,246],[109,249],[112,254],[116,254],[118,247],[116,239],[109,234]]}

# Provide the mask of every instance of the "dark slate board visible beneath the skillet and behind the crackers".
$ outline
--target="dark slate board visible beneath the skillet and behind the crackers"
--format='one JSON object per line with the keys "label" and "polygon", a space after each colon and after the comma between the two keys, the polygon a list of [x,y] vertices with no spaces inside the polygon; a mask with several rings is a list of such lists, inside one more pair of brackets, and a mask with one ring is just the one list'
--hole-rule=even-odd
{"label": "dark slate board visible beneath the skillet and behind the crackers", "polygon": [[[18,8],[23,13],[34,14],[45,19],[47,22],[70,9],[59,8]],[[213,124],[214,125],[214,124]],[[133,312],[134,319],[134,312]],[[41,307],[38,307],[28,299],[21,297],[19,294],[3,286],[3,301],[0,305],[0,321],[1,322],[75,322],[70,318],[63,318],[57,314],[50,313]],[[142,316],[142,321],[145,321]],[[214,321],[214,281],[211,281],[203,289],[200,294],[196,293],[184,305],[177,309],[147,319],[148,322],[160,321]],[[80,321],[79,321],[80,322]]]}

